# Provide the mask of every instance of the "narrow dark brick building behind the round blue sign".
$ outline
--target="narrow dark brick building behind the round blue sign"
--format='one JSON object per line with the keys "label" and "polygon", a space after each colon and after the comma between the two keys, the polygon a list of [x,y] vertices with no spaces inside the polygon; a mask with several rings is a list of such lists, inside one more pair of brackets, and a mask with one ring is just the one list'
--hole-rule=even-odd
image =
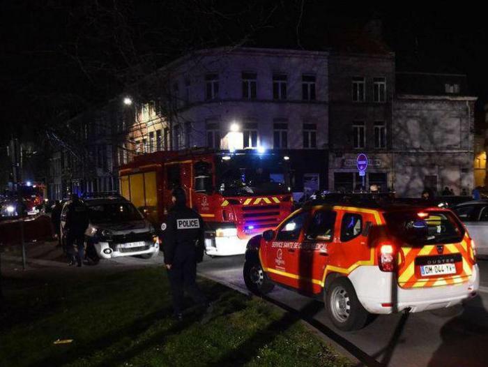
{"label": "narrow dark brick building behind the round blue sign", "polygon": [[[395,55],[331,52],[329,57],[329,171],[331,190],[392,186],[391,123],[395,96]],[[356,167],[358,153],[366,153],[364,177]]]}

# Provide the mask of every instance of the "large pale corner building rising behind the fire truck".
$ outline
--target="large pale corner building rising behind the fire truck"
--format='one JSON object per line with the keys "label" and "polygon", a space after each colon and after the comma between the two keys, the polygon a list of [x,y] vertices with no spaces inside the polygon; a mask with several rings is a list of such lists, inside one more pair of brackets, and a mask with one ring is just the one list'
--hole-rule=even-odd
{"label": "large pale corner building rising behind the fire truck", "polygon": [[328,52],[201,50],[155,77],[162,92],[144,99],[130,133],[136,152],[273,149],[290,156],[294,190],[326,188]]}

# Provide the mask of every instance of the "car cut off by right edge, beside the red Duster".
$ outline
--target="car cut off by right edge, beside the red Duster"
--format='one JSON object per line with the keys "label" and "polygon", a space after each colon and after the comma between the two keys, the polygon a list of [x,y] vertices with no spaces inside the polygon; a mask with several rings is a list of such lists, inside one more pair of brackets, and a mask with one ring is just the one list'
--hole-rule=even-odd
{"label": "car cut off by right edge, beside the red Duster", "polygon": [[488,257],[488,200],[472,200],[452,207],[475,241],[476,256]]}

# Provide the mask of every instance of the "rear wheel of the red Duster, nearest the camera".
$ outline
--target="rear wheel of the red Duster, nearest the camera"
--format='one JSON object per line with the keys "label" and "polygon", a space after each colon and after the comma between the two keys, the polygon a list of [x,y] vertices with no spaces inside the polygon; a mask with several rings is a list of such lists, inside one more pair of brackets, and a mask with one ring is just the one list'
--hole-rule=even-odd
{"label": "rear wheel of the red Duster, nearest the camera", "polygon": [[360,304],[349,279],[333,280],[324,298],[328,317],[337,329],[352,331],[365,326],[369,314]]}

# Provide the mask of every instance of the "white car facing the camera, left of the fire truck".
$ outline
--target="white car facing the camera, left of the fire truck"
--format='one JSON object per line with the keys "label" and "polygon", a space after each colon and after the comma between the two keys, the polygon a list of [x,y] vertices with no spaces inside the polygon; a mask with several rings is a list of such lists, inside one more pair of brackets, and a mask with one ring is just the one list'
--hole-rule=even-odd
{"label": "white car facing the camera, left of the fire truck", "polygon": [[[92,262],[100,258],[141,255],[155,257],[160,244],[155,230],[137,208],[120,196],[93,197],[83,200],[89,211],[85,231],[86,255]],[[66,241],[66,202],[61,211],[61,239]]]}

